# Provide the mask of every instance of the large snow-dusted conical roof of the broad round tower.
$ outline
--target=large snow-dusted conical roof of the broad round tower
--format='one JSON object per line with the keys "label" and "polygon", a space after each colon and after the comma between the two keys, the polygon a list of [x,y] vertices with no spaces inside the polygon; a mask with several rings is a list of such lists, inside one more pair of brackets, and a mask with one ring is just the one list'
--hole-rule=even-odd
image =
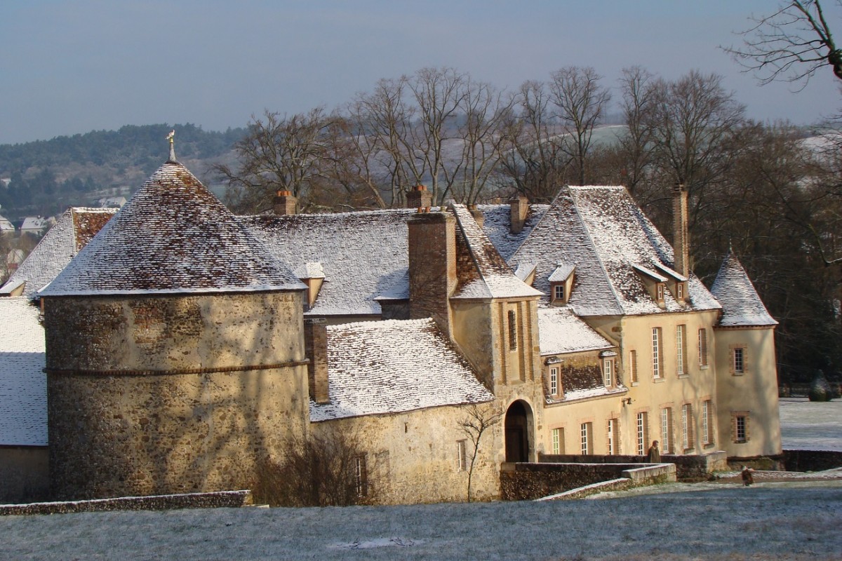
{"label": "large snow-dusted conical roof of the broad round tower", "polygon": [[304,288],[186,167],[171,160],[40,295]]}

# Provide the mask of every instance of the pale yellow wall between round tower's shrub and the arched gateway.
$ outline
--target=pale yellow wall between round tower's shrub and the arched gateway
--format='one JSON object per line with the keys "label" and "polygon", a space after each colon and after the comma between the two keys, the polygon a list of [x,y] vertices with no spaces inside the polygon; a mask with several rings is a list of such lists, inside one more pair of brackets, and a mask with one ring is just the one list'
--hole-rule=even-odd
{"label": "pale yellow wall between round tower's shrub and the arched gateway", "polygon": [[[459,469],[457,442],[467,441],[470,462],[473,445],[459,426],[468,415],[466,406],[435,407],[394,415],[321,421],[312,423],[311,431],[317,435],[335,427],[360,438],[372,502],[465,501],[468,472]],[[499,496],[497,448],[501,432],[502,421],[482,435],[472,476],[472,500],[493,500]]]}

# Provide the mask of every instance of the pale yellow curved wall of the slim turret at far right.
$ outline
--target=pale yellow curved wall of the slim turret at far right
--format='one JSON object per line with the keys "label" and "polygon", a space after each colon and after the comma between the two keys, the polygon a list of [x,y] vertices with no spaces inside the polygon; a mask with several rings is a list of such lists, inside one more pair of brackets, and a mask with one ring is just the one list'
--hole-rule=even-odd
{"label": "pale yellow curved wall of the slim turret at far right", "polygon": [[[774,328],[717,329],[716,338],[720,447],[732,458],[781,453]],[[743,374],[733,373],[731,350],[735,346],[745,349]],[[749,417],[746,442],[735,442],[735,412]]]}

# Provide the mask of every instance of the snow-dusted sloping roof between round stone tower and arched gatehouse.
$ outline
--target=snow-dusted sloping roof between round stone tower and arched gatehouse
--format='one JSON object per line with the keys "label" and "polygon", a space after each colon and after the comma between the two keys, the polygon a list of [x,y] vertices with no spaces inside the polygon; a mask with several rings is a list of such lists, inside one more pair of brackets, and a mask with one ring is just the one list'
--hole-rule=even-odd
{"label": "snow-dusted sloping roof between round stone tower and arched gatehouse", "polygon": [[328,325],[328,394],[311,421],[494,399],[429,319]]}

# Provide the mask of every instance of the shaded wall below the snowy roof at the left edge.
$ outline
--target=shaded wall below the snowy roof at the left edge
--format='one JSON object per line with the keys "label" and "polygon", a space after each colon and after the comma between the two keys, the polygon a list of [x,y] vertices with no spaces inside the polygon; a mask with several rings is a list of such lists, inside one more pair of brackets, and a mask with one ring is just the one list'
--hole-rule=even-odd
{"label": "shaded wall below the snowy roof at the left edge", "polygon": [[50,498],[47,447],[0,446],[0,503]]}

